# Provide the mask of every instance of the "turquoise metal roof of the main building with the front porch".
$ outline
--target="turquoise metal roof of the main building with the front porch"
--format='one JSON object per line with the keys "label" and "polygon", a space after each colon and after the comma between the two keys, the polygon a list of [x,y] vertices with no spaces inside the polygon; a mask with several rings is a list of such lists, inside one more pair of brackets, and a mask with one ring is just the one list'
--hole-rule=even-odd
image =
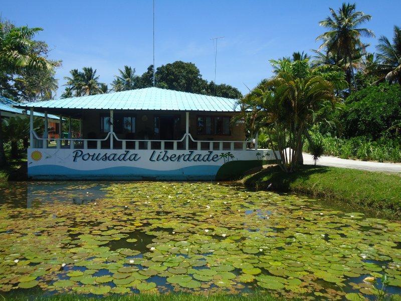
{"label": "turquoise metal roof of the main building with the front porch", "polygon": [[240,111],[236,99],[143,88],[122,92],[70,97],[20,104],[20,107],[53,109],[108,109],[108,110],[171,110],[171,111]]}

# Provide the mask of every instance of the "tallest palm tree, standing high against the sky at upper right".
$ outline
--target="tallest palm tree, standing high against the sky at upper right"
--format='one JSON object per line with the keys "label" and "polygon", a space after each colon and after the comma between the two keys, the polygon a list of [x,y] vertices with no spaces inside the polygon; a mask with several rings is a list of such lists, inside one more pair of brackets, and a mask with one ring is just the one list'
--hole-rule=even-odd
{"label": "tallest palm tree, standing high against the sky at upper right", "polygon": [[[365,49],[361,37],[374,37],[371,30],[359,28],[359,26],[371,19],[370,15],[356,11],[355,4],[343,3],[338,12],[330,8],[331,16],[319,22],[320,26],[326,27],[329,31],[321,34],[316,41],[322,40],[323,43],[319,50],[325,48],[328,52],[336,54],[337,59],[343,60],[343,64],[348,64],[348,70],[351,74],[354,88],[356,89],[355,73],[352,67],[353,55],[355,49]],[[351,88],[351,81],[348,82]]]}

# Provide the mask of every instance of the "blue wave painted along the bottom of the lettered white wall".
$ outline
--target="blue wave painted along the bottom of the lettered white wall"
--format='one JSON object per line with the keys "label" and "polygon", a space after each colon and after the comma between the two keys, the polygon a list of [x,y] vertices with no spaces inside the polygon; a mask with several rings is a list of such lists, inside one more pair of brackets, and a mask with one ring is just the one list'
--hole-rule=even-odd
{"label": "blue wave painted along the bottom of the lettered white wall", "polygon": [[214,180],[219,168],[215,165],[197,165],[157,171],[119,166],[82,171],[60,165],[40,165],[29,167],[28,177],[38,180]]}

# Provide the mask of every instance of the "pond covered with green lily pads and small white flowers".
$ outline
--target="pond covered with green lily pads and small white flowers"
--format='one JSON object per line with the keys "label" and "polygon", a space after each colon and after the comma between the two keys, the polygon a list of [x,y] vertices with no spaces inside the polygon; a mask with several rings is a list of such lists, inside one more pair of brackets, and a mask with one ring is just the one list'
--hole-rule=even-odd
{"label": "pond covered with green lily pads and small white flowers", "polygon": [[[0,188],[0,292],[401,292],[401,223],[227,183]],[[375,283],[376,281],[376,283]]]}

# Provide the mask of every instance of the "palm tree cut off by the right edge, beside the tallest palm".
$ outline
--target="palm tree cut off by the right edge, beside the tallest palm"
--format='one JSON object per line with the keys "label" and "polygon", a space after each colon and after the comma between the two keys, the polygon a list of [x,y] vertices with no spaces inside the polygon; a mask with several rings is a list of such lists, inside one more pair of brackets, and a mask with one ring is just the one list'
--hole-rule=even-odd
{"label": "palm tree cut off by the right edge, beside the tallest palm", "polygon": [[388,82],[401,84],[401,29],[394,26],[392,44],[386,37],[381,36],[376,49],[379,63],[375,71]]}

